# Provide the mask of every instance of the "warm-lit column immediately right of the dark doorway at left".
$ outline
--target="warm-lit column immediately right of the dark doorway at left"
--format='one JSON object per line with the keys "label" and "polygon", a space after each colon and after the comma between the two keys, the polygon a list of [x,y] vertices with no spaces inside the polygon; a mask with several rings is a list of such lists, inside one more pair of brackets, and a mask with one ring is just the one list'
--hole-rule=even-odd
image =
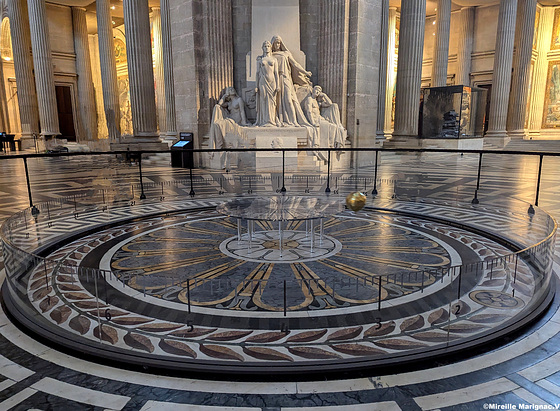
{"label": "warm-lit column immediately right of the dark doorway at left", "polygon": [[74,25],[74,50],[76,52],[76,73],[78,74],[80,134],[83,139],[92,141],[97,139],[97,110],[89,55],[86,9],[72,7],[72,24]]}

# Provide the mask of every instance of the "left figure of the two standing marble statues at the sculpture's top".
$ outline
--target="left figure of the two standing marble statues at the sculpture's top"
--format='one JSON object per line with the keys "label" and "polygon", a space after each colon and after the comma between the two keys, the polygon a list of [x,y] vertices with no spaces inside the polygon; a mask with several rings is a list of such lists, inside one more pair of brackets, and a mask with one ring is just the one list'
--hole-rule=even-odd
{"label": "left figure of the two standing marble statues at the sculpture's top", "polygon": [[262,45],[263,54],[257,57],[257,121],[255,126],[278,127],[277,95],[278,62],[272,57],[272,44],[265,41]]}

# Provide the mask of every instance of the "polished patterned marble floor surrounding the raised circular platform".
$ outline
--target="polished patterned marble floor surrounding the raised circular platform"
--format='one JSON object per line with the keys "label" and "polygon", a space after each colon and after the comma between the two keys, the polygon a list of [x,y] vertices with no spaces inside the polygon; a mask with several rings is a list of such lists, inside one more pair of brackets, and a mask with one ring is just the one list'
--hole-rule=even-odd
{"label": "polished patterned marble floor surrounding the raised circular platform", "polygon": [[[501,158],[488,154],[483,163],[478,198],[481,204],[500,204],[507,198],[533,201],[538,158]],[[109,161],[109,160],[107,160]],[[137,169],[77,159],[30,160],[35,202],[63,196],[92,195],[92,186],[138,190]],[[478,156],[432,154],[388,155],[380,162],[379,196],[418,196],[470,201],[476,188]],[[559,163],[545,158],[539,204],[560,216],[556,182]],[[0,163],[0,212],[5,218],[28,205],[21,160]],[[165,166],[145,166],[146,195],[188,194],[188,174]],[[195,173],[197,191],[258,191],[280,187],[277,173],[253,173],[232,179],[223,172]],[[344,184],[372,188],[373,168],[335,173],[333,190]],[[280,183],[280,184],[279,184]],[[285,182],[324,191],[326,181],[309,173]],[[97,191],[98,193],[98,191]],[[95,194],[95,193],[94,193]],[[105,191],[106,195],[117,195]],[[97,194],[96,194],[97,195]],[[136,195],[138,195],[136,193]],[[218,194],[219,195],[219,194]],[[81,198],[81,197],[80,197]],[[557,259],[557,261],[559,261]],[[555,271],[559,267],[555,265]],[[435,363],[423,370],[397,374],[255,383],[211,381],[185,375],[152,376],[77,359],[35,341],[0,317],[0,409],[126,409],[126,410],[479,410],[486,404],[560,404],[560,311],[558,297],[544,318],[504,345],[487,353],[473,353],[458,362]],[[341,376],[344,377],[344,376]],[[492,409],[492,408],[490,408]]]}

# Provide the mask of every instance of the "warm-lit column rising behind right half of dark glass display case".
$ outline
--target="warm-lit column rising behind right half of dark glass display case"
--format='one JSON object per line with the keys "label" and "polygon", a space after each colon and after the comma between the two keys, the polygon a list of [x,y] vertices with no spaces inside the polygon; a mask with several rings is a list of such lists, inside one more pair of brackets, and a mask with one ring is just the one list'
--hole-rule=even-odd
{"label": "warm-lit column rising behind right half of dark glass display case", "polygon": [[472,50],[474,43],[474,7],[463,7],[459,14],[459,47],[455,84],[471,85]]}

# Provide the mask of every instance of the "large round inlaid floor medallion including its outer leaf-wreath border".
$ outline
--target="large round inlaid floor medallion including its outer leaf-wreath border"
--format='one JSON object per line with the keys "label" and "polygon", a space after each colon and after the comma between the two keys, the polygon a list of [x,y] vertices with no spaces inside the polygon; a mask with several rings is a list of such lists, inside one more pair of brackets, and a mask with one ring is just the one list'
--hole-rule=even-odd
{"label": "large round inlaid floor medallion including its outer leaf-wreath border", "polygon": [[[521,313],[535,292],[531,269],[504,259],[481,264],[458,298],[458,270],[445,269],[507,249],[444,224],[348,212],[325,229],[341,240],[339,253],[275,264],[222,254],[220,240],[236,226],[211,210],[147,218],[62,246],[46,276],[42,266],[33,271],[27,295],[70,339],[120,353],[293,364],[398,357],[476,338]],[[78,270],[94,262],[112,271]],[[446,274],[430,276],[437,269]]]}

